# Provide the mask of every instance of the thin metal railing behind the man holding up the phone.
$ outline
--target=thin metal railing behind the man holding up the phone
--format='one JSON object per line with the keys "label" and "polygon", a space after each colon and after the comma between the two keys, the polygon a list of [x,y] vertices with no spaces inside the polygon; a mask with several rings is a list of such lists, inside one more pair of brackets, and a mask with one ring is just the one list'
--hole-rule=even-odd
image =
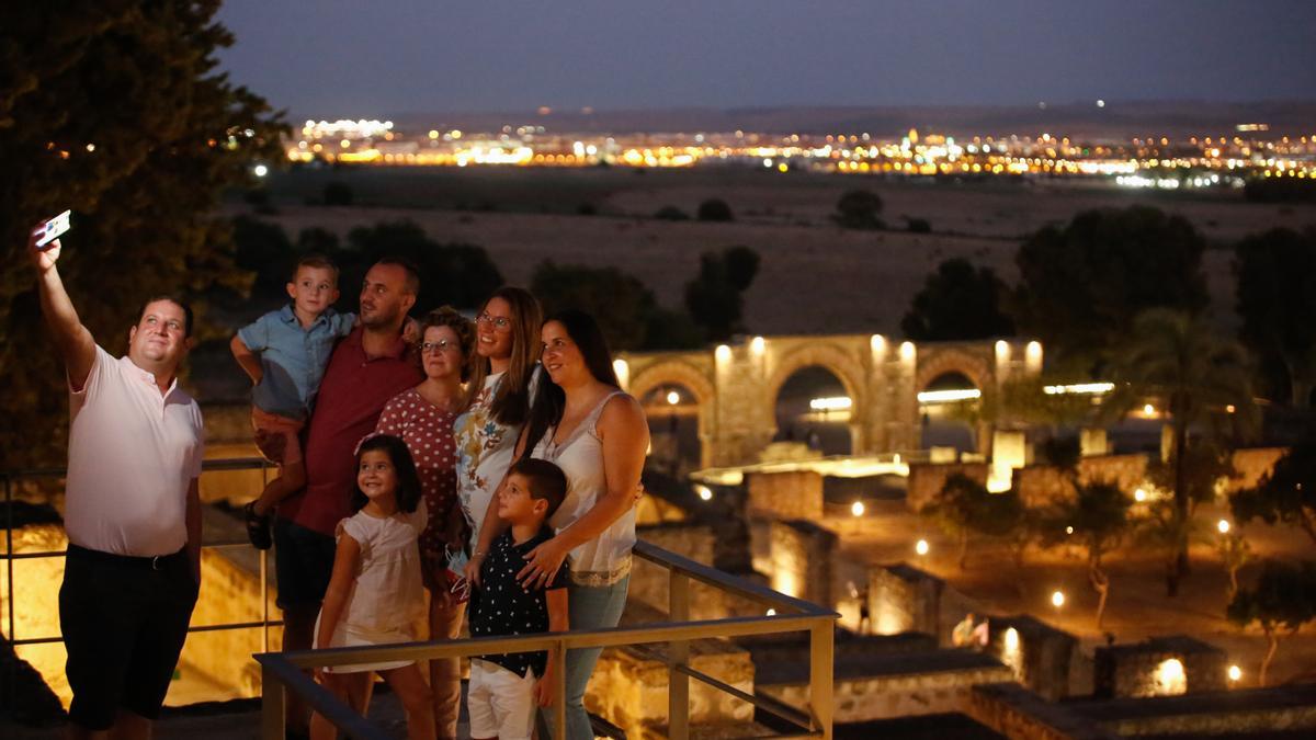
{"label": "thin metal railing behind the man holding up the phone", "polygon": [[[267,481],[268,479],[268,473],[270,473],[271,467],[272,466],[267,461],[265,461],[263,458],[258,458],[258,457],[257,458],[208,460],[208,461],[203,462],[203,465],[201,465],[201,473],[204,474],[204,473],[225,473],[225,471],[261,470],[261,473],[262,473],[262,481]],[[14,648],[20,648],[20,647],[24,647],[24,645],[43,645],[43,644],[62,643],[63,641],[63,637],[59,636],[59,635],[42,635],[42,636],[38,636],[38,637],[24,637],[24,639],[18,639],[17,637],[14,611],[17,608],[16,604],[18,602],[18,590],[17,590],[17,583],[16,583],[16,578],[14,578],[14,573],[13,573],[13,564],[14,564],[14,561],[20,561],[20,560],[42,560],[42,558],[54,558],[54,557],[62,558],[62,557],[64,557],[67,554],[66,550],[43,550],[43,552],[33,552],[33,553],[16,553],[16,552],[13,552],[13,533],[14,533],[14,516],[13,516],[14,515],[14,507],[13,507],[13,503],[14,503],[13,502],[13,495],[14,495],[14,492],[13,492],[13,490],[14,490],[14,485],[17,485],[17,483],[20,483],[22,481],[59,479],[59,478],[63,478],[66,474],[67,474],[67,469],[64,469],[64,467],[47,467],[47,469],[39,469],[39,470],[17,470],[17,471],[0,473],[0,481],[3,481],[3,485],[4,485],[4,506],[5,506],[5,550],[4,550],[3,554],[0,554],[0,557],[3,557],[4,561],[5,561],[5,586],[8,587],[8,594],[9,594],[9,598],[8,598],[7,603],[5,603],[7,612],[8,612],[5,615],[5,624],[8,627],[7,635],[8,635],[8,639],[9,639],[9,644],[12,647],[14,647]],[[250,546],[251,546],[251,542],[249,542],[246,539],[242,539],[242,540],[220,540],[220,541],[203,542],[201,549],[225,550],[225,549],[250,548]],[[280,620],[271,620],[270,619],[270,599],[268,599],[268,585],[270,585],[270,582],[268,582],[268,554],[270,554],[270,550],[257,550],[257,552],[259,553],[261,619],[258,621],[225,621],[225,623],[217,623],[217,624],[188,625],[187,631],[188,631],[190,635],[195,633],[195,632],[222,632],[222,631],[230,631],[230,629],[255,629],[255,628],[261,628],[261,631],[262,631],[262,635],[261,635],[262,649],[265,649],[265,650],[270,649],[270,628],[271,627],[282,627],[283,621],[280,621]],[[59,586],[58,583],[54,585],[54,587],[58,587],[58,586]],[[14,670],[14,664],[11,662],[11,666],[9,666],[11,675],[9,675],[9,681],[8,681],[8,683],[11,686],[11,691],[13,690],[13,686],[14,686],[13,674],[12,674],[13,670]]]}

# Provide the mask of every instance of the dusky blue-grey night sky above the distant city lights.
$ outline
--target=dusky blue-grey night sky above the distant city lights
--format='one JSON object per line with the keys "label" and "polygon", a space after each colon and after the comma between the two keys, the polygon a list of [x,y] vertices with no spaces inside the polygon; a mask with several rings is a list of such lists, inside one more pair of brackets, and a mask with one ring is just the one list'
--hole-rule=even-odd
{"label": "dusky blue-grey night sky above the distant city lights", "polygon": [[297,117],[1316,99],[1309,0],[228,0]]}

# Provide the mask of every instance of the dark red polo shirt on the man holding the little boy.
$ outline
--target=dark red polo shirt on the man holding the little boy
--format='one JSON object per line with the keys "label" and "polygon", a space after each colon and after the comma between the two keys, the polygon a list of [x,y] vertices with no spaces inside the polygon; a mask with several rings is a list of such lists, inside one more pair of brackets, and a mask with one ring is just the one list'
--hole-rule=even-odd
{"label": "dark red polo shirt on the man holding the little boy", "polygon": [[375,431],[388,399],[424,379],[400,337],[387,354],[367,357],[362,334],[353,329],[329,357],[307,432],[307,489],[279,504],[279,516],[329,536],[351,514],[357,442]]}

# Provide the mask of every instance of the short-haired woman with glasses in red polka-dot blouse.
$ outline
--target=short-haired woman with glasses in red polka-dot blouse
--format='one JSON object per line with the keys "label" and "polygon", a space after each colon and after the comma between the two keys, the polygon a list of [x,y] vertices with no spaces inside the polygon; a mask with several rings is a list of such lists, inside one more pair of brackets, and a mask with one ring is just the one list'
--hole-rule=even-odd
{"label": "short-haired woman with glasses in red polka-dot blouse", "polygon": [[[430,639],[461,633],[466,604],[451,593],[449,549],[465,545],[465,516],[457,499],[457,441],[453,427],[467,407],[462,382],[475,361],[475,328],[450,307],[430,311],[421,323],[420,362],[425,379],[393,396],[375,427],[376,432],[401,437],[407,444],[429,520],[420,536],[421,574],[430,591]],[[459,658],[429,661],[434,698],[434,727],[440,737],[457,737],[457,714],[462,699]]]}

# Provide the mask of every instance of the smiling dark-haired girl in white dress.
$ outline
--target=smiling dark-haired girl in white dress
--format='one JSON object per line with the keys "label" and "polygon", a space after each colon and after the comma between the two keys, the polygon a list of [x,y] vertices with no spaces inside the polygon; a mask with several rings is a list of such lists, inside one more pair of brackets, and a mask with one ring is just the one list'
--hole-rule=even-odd
{"label": "smiling dark-haired girl in white dress", "polygon": [[[386,645],[421,640],[425,618],[420,546],[425,503],[407,444],[372,435],[357,448],[357,514],[338,525],[333,575],[316,620],[316,648]],[[370,703],[371,673],[378,672],[407,710],[412,739],[434,737],[430,691],[415,661],[316,669],[316,678],[361,714]],[[311,736],[330,740],[333,724],[311,718]]]}

